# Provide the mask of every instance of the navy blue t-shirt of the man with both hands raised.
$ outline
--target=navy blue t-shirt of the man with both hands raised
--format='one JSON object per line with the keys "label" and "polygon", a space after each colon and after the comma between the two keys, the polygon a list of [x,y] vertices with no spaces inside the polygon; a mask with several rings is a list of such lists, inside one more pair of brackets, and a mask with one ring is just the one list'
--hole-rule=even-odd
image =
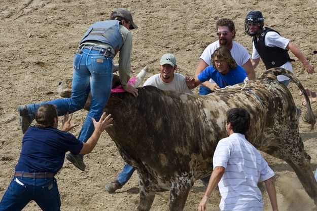
{"label": "navy blue t-shirt of the man with both hands raised", "polygon": [[83,148],[73,134],[49,127],[31,126],[22,139],[22,150],[15,171],[57,173],[65,153],[78,155]]}

